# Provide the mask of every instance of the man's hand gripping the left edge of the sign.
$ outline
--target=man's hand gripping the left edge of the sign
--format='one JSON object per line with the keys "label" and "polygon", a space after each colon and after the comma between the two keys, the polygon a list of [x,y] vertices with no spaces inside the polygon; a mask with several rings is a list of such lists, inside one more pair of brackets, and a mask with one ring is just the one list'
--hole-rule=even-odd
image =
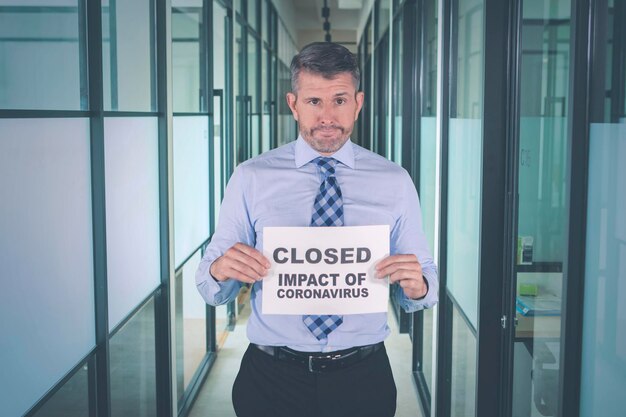
{"label": "man's hand gripping the left edge of the sign", "polygon": [[270,266],[270,262],[258,250],[243,243],[235,243],[211,264],[210,273],[217,281],[232,278],[254,284],[267,275]]}

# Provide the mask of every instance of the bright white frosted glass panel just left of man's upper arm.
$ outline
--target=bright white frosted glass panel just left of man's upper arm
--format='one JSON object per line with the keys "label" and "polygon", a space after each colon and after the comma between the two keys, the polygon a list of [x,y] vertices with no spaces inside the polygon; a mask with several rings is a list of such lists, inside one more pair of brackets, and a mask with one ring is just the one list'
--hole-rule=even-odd
{"label": "bright white frosted glass panel just left of man's upper arm", "polygon": [[209,118],[174,117],[174,264],[208,239]]}

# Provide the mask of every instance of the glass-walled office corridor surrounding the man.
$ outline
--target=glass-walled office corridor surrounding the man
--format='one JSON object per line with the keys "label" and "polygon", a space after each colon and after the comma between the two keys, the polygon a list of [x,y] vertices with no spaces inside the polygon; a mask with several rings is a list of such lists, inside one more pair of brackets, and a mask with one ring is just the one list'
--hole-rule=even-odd
{"label": "glass-walled office corridor surrounding the man", "polygon": [[234,416],[249,294],[195,270],[297,138],[312,41],[403,166],[439,303],[390,301],[399,417],[626,409],[626,1],[0,0],[0,415]]}

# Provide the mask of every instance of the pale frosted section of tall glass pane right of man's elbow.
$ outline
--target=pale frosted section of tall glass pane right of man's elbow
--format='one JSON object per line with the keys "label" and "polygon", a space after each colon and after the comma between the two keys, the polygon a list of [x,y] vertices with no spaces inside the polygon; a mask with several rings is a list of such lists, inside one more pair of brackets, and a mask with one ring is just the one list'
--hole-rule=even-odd
{"label": "pale frosted section of tall glass pane right of man's elbow", "polygon": [[477,325],[482,125],[450,119],[448,172],[448,290]]}

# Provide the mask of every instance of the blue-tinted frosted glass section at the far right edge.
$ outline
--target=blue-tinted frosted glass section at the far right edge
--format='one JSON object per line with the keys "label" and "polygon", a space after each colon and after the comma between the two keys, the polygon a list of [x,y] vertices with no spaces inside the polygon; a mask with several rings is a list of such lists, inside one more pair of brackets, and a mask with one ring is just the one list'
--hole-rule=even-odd
{"label": "blue-tinted frosted glass section at the far right edge", "polygon": [[592,124],[580,415],[618,416],[626,397],[626,123]]}

